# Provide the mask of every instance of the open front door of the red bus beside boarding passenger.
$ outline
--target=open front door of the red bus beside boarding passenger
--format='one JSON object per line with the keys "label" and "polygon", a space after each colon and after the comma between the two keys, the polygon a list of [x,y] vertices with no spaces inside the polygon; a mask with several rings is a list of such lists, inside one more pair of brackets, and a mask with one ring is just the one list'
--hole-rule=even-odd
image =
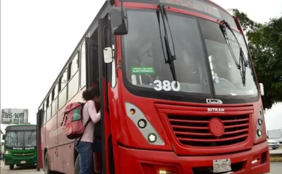
{"label": "open front door of the red bus beside boarding passenger", "polygon": [[[108,141],[111,140],[110,126],[109,126],[109,109],[108,109],[108,77],[107,77],[107,65],[103,59],[103,49],[107,47],[107,15],[104,18],[98,19],[98,43],[90,37],[85,39],[86,47],[86,88],[95,86],[97,77],[97,68],[99,69],[99,89],[100,89],[100,110],[101,110],[101,121],[95,125],[95,139],[101,139],[102,141],[102,154],[94,153],[94,171],[96,173],[101,172],[108,173],[106,168],[109,168],[109,163],[106,163],[109,159],[109,146]],[[97,50],[98,47],[98,50]],[[98,57],[94,54],[98,51]],[[98,65],[98,66],[96,66]],[[108,126],[105,126],[108,125]]]}

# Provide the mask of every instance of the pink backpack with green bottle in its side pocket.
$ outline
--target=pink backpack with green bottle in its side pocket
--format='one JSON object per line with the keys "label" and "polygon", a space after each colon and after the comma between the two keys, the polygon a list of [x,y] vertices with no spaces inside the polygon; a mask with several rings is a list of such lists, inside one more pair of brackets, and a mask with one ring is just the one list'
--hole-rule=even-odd
{"label": "pink backpack with green bottle in its side pocket", "polygon": [[[90,119],[86,122],[85,126],[82,124],[82,117],[83,117],[83,106],[85,103],[81,102],[75,102],[75,103],[70,103],[66,106],[65,112],[64,112],[64,117],[63,121],[61,123],[61,126],[63,126],[65,135],[67,136],[68,139],[77,139],[78,143],[80,142],[82,135],[84,133],[85,127],[88,125],[90,122]],[[73,120],[72,117],[74,115],[74,110],[78,109],[80,113],[80,119],[79,120]]]}

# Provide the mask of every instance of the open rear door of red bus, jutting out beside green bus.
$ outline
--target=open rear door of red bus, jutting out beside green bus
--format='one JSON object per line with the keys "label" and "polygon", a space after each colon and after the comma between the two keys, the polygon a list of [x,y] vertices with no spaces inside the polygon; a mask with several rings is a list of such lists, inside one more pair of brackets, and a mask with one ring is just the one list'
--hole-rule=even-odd
{"label": "open rear door of red bus, jutting out beside green bus", "polygon": [[42,109],[38,110],[36,115],[36,130],[37,130],[37,162],[36,162],[36,169],[40,171],[43,168],[42,163],[42,150],[41,150],[41,123],[42,123]]}

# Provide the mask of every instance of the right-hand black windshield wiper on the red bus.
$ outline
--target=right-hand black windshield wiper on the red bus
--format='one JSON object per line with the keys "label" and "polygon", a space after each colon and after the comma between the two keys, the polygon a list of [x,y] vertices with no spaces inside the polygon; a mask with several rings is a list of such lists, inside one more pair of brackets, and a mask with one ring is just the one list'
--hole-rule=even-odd
{"label": "right-hand black windshield wiper on the red bus", "polygon": [[[233,36],[234,36],[234,38],[235,38],[235,40],[236,40],[236,42],[238,44],[238,47],[239,47],[239,50],[240,50],[240,55],[239,55],[239,63],[240,64],[237,62],[237,59],[236,59],[236,57],[234,55],[232,47],[231,47],[230,43],[228,42],[230,39],[227,36],[227,32],[225,31],[226,30],[225,27],[223,25],[220,25],[219,28],[220,28],[221,32],[223,33],[223,36],[225,38],[225,41],[227,43],[227,46],[228,46],[229,51],[230,51],[230,53],[231,53],[231,55],[232,55],[232,57],[234,59],[234,62],[236,64],[236,66],[240,70],[240,74],[241,74],[241,78],[242,78],[242,83],[243,83],[243,86],[245,86],[246,85],[246,67],[248,67],[248,61],[246,60],[246,57],[244,55],[244,52],[243,52],[242,47],[240,45],[240,42],[238,41],[238,39],[237,39],[235,33],[233,32],[231,26],[225,20],[220,21],[220,23],[224,24],[228,28],[228,30],[230,30],[230,32],[233,34]],[[243,66],[243,67],[241,67],[241,66]],[[242,68],[242,70],[241,70],[241,68]]]}

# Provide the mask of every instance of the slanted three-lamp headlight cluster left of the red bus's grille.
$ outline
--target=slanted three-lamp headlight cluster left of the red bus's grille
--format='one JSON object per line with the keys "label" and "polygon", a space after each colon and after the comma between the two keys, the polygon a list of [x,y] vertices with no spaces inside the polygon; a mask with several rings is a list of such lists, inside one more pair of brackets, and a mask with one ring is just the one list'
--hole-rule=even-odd
{"label": "slanted three-lamp headlight cluster left of the red bus's grille", "polygon": [[125,110],[128,118],[132,120],[149,144],[165,144],[145,114],[136,105],[125,102]]}

